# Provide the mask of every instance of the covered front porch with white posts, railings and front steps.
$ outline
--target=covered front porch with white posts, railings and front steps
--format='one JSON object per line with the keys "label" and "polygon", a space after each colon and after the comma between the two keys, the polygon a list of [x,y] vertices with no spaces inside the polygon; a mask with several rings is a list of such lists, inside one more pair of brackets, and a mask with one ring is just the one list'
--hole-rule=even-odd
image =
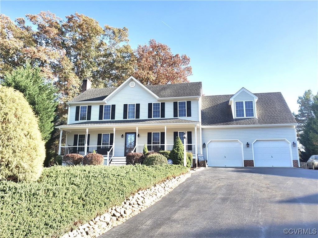
{"label": "covered front porch with white posts, railings and front steps", "polygon": [[[186,144],[186,150],[193,154],[193,158],[202,153],[202,136],[197,123],[82,128],[65,125],[59,129],[59,155],[86,155],[95,150],[104,156],[105,165],[125,164],[126,155],[130,152],[142,153],[145,144],[149,151],[171,151],[176,136]],[[185,140],[183,132],[187,133]],[[65,136],[63,144],[62,136]]]}

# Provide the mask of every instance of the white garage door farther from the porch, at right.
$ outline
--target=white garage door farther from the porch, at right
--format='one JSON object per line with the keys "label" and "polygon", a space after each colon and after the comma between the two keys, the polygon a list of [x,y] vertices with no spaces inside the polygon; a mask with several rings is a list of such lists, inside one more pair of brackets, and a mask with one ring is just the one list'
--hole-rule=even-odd
{"label": "white garage door farther from the porch, at right", "polygon": [[285,140],[254,142],[255,167],[291,167],[289,143]]}

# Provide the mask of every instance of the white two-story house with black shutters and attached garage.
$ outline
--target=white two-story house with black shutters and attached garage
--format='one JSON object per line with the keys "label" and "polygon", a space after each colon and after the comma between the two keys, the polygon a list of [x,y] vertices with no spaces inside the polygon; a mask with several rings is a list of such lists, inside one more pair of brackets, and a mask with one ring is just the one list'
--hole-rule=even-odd
{"label": "white two-story house with black shutters and attached garage", "polygon": [[297,123],[281,93],[242,88],[202,96],[200,82],[144,86],[134,77],[117,88],[90,85],[84,80],[83,92],[68,102],[67,125],[57,127],[60,155],[96,150],[105,165],[125,164],[144,144],[149,151],[171,150],[179,136],[209,166],[299,166]]}

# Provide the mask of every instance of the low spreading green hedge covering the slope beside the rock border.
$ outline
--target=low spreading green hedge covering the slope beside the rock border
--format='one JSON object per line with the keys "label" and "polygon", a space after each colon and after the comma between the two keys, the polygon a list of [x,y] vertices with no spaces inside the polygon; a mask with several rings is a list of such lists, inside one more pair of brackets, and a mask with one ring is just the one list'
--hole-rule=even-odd
{"label": "low spreading green hedge covering the slope beside the rock border", "polygon": [[59,237],[138,190],[186,172],[168,164],[53,166],[36,182],[0,181],[0,237]]}

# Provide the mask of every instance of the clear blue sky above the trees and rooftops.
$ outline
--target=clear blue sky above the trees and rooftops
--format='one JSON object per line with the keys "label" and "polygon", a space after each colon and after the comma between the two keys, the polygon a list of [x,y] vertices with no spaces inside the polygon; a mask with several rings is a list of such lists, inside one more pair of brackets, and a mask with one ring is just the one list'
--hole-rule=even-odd
{"label": "clear blue sky above the trees and rooftops", "polygon": [[[100,25],[126,26],[132,48],[153,38],[191,58],[205,95],[282,92],[291,111],[318,91],[317,1],[3,1],[12,20],[75,11]],[[166,24],[164,24],[164,23]]]}

